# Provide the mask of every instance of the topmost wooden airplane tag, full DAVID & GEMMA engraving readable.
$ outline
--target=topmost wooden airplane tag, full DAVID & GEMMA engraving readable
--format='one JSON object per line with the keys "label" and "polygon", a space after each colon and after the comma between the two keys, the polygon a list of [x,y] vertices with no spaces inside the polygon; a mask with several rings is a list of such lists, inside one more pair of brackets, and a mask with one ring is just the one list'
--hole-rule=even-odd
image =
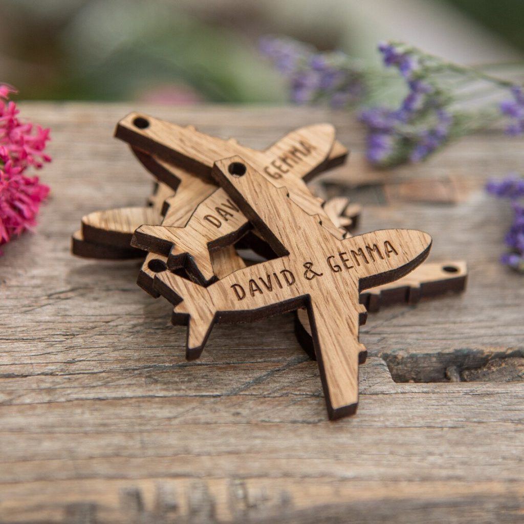
{"label": "topmost wooden airplane tag, full DAVID & GEMMA engraving readable", "polygon": [[239,269],[204,288],[168,271],[157,290],[188,323],[187,356],[197,358],[213,323],[246,322],[307,307],[331,419],[355,413],[358,363],[366,350],[358,326],[359,292],[406,275],[428,255],[431,237],[384,230],[339,239],[240,157],[215,163],[213,176],[279,258]]}

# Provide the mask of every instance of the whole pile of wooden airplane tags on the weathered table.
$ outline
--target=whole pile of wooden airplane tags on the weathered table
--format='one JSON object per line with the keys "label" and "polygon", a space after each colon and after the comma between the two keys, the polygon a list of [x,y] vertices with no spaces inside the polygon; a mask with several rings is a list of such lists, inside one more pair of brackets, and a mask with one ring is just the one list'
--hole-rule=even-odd
{"label": "whole pile of wooden airplane tags on the weathered table", "polygon": [[330,124],[301,127],[265,150],[137,113],[115,136],[155,177],[155,190],[144,207],[84,216],[72,252],[145,257],[138,285],[174,305],[174,324],[188,325],[188,359],[200,356],[215,322],[296,311],[329,418],[340,418],[356,412],[367,311],[464,289],[462,261],[422,264],[427,233],[352,236],[359,206],[310,191],[308,181],[347,158]]}

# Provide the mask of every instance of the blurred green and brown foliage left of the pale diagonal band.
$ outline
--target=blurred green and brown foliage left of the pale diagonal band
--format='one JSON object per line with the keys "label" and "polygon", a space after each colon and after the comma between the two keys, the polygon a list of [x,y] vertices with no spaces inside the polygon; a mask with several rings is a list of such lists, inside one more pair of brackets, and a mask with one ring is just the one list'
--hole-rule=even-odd
{"label": "blurred green and brown foliage left of the pale diagonal band", "polygon": [[253,40],[166,2],[2,0],[0,43],[2,81],[26,99],[137,99],[159,85],[213,102],[286,99]]}

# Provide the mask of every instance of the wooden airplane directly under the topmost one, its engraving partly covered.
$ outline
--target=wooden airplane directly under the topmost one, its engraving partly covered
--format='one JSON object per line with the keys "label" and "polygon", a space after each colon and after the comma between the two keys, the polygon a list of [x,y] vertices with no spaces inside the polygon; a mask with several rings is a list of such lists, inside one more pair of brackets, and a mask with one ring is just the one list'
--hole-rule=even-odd
{"label": "wooden airplane directly under the topmost one, its engraving partly covered", "polygon": [[[323,201],[312,195],[305,184],[305,180],[338,165],[347,156],[347,150],[336,142],[331,124],[295,129],[264,151],[137,113],[119,122],[115,136],[151,155],[177,162],[183,169],[208,176],[213,161],[223,158],[224,152],[230,154],[226,156],[242,155],[276,187],[287,187],[291,198],[305,211],[323,216],[324,227],[344,236],[329,220]],[[154,171],[151,159],[148,167]],[[166,178],[161,180],[169,183]],[[183,227],[175,225],[169,220],[160,226],[144,225],[135,232],[133,245],[167,256],[169,269],[183,267],[191,278],[202,284],[217,278],[211,260],[213,251],[231,245],[244,236],[249,227],[246,218],[221,189],[202,200]]]}

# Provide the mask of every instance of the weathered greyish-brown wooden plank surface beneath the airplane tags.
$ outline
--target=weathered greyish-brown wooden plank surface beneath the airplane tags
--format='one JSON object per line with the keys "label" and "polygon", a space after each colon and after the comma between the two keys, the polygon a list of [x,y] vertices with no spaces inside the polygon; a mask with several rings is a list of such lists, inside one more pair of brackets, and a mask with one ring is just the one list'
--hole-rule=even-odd
{"label": "weathered greyish-brown wooden plank surface beneath the airplane tags", "polygon": [[470,281],[463,296],[369,315],[358,414],[330,422],[291,315],[216,326],[188,363],[170,305],[135,284],[139,261],[69,254],[83,215],[149,194],[111,138],[132,109],[252,147],[330,121],[355,165],[363,151],[362,128],[323,110],[23,104],[51,127],[54,161],[37,234],[0,258],[0,522],[522,521],[524,384],[445,382],[524,353],[524,282],[498,263],[511,212],[482,190],[522,167],[519,141],[478,135],[379,174],[460,181],[457,205],[379,205],[374,189],[359,231],[428,231],[430,260],[466,259]]}

